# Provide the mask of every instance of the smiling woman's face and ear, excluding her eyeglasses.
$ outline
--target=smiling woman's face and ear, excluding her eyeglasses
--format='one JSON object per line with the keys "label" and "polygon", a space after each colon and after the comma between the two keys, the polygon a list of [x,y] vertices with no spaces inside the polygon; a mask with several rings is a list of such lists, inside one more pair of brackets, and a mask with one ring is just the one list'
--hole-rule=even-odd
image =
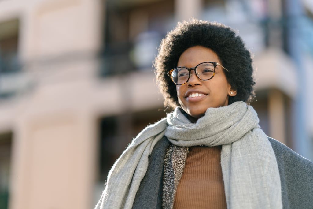
{"label": "smiling woman's face and ear, excluding her eyeglasses", "polygon": [[[206,61],[223,65],[214,51],[203,46],[193,46],[182,53],[177,66],[192,68]],[[209,107],[228,105],[228,97],[237,93],[227,82],[223,68],[218,65],[211,80],[199,80],[195,71],[191,71],[189,81],[182,86],[176,86],[176,90],[182,109],[195,119],[202,117]]]}

